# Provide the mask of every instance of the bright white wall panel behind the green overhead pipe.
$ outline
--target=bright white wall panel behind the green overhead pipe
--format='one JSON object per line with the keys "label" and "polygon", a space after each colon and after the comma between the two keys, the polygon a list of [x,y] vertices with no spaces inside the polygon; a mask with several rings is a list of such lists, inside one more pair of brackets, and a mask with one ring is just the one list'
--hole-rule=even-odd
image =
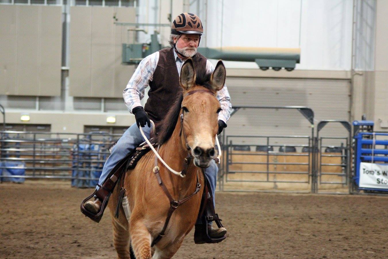
{"label": "bright white wall panel behind the green overhead pipe", "polygon": [[[351,0],[213,0],[208,1],[207,16],[204,10],[199,16],[206,23],[207,47],[300,47],[296,69],[350,70],[352,4]],[[225,65],[257,68],[246,62]]]}

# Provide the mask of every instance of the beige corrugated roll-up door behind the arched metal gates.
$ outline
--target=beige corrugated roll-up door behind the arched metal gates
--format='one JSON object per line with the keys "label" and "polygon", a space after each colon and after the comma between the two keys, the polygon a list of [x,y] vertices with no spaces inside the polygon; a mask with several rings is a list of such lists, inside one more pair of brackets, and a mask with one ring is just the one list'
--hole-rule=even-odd
{"label": "beige corrugated roll-up door behind the arched metal gates", "polygon": [[[349,120],[349,80],[229,77],[226,83],[233,106],[307,106],[314,110],[315,125],[320,120]],[[227,135],[311,135],[310,123],[297,110],[241,109],[227,124]],[[335,124],[327,125],[323,136],[346,136]],[[264,144],[247,141],[236,144]]]}

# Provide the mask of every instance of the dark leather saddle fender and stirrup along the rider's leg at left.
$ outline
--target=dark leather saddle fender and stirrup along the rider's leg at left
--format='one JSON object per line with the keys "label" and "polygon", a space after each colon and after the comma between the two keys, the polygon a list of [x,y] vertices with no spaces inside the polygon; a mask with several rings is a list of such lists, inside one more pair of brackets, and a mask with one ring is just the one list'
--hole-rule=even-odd
{"label": "dark leather saddle fender and stirrup along the rider's leg at left", "polygon": [[[157,145],[155,143],[155,139],[150,139],[150,142],[152,146]],[[111,148],[113,148],[113,146]],[[128,154],[125,158],[123,158],[120,162],[118,162],[117,165],[113,168],[113,170],[109,173],[104,183],[102,183],[102,185],[99,186],[100,188],[98,190],[96,189],[90,196],[88,196],[81,202],[81,212],[85,216],[92,219],[93,221],[97,223],[100,222],[102,215],[104,214],[104,210],[108,205],[109,197],[113,193],[114,187],[116,187],[116,183],[118,183],[118,181],[123,177],[124,173],[128,169],[135,168],[140,158],[142,158],[142,156],[144,156],[150,150],[151,148],[149,147],[149,145],[146,142],[143,142],[137,148],[135,148],[135,150],[132,153]],[[97,214],[93,214],[89,212],[84,207],[85,202],[87,202],[94,196],[99,198],[102,201],[101,209]]]}

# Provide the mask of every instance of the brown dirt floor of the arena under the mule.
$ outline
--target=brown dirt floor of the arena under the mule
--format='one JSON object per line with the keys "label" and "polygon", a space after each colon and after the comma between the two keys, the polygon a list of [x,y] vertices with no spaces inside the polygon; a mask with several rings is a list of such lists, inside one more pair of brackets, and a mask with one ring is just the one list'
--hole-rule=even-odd
{"label": "brown dirt floor of the arena under the mule", "polygon": [[[40,185],[38,183],[43,183]],[[80,212],[91,189],[68,182],[0,184],[0,258],[115,258],[108,213]],[[229,236],[174,258],[388,258],[388,197],[217,193]]]}

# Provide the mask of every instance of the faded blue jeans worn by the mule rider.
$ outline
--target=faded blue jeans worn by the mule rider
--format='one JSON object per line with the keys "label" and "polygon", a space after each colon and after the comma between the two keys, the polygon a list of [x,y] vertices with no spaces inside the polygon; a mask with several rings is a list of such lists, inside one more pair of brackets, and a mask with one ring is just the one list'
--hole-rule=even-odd
{"label": "faded blue jeans worn by the mule rider", "polygon": [[[149,134],[151,132],[151,128],[145,127],[142,128],[145,136],[149,138]],[[140,133],[139,128],[136,123],[134,123],[131,127],[129,127],[117,141],[116,145],[113,147],[111,155],[105,162],[104,168],[102,169],[102,173],[99,179],[99,184],[102,185],[105,179],[109,175],[109,173],[113,170],[113,168],[120,162],[126,155],[131,153],[133,149],[135,149],[139,144],[143,143],[144,139],[142,134]],[[217,184],[217,173],[218,167],[214,160],[211,161],[210,167],[205,169],[206,179],[208,179],[210,183],[211,194],[213,195],[213,202],[215,202],[215,189]],[[97,189],[99,187],[97,186]],[[215,203],[214,203],[215,204]]]}

